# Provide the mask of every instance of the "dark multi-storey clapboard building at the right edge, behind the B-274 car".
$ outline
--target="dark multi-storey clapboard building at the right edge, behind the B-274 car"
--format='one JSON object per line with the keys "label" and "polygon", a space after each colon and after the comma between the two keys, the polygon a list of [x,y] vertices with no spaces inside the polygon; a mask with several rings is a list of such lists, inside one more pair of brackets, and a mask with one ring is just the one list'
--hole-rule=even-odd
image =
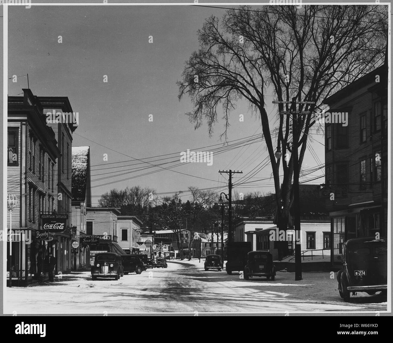
{"label": "dark multi-storey clapboard building at the right edge, behind the B-274 car", "polygon": [[356,237],[387,237],[387,64],[325,100],[346,113],[347,126],[325,123],[325,197],[331,217],[332,260]]}

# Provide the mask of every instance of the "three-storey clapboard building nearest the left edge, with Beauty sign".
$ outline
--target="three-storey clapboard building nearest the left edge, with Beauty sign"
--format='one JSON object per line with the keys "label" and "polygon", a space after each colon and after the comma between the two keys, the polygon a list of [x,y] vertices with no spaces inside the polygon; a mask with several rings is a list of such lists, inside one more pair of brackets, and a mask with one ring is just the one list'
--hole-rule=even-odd
{"label": "three-storey clapboard building nearest the left edge, with Beauty sign", "polygon": [[[61,157],[54,130],[46,123],[42,103],[31,90],[22,97],[8,97],[7,193],[17,197],[12,211],[12,229],[24,233],[7,243],[7,273],[26,284],[37,275],[37,258],[49,253],[59,257],[59,237],[36,238],[42,213],[57,209],[57,183],[54,171]],[[7,227],[10,217],[7,215]],[[57,271],[57,270],[56,270]],[[8,274],[9,275],[9,274]]]}

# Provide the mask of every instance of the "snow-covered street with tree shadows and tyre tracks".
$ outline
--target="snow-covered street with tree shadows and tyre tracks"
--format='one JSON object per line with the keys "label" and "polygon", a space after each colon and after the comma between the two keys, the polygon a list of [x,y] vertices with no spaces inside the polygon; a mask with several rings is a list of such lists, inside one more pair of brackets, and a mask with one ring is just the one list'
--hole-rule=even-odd
{"label": "snow-covered street with tree shadows and tyre tracks", "polygon": [[[92,281],[90,272],[64,274],[54,283],[4,290],[4,313],[121,314],[147,312],[324,312],[386,311],[387,299],[358,293],[344,303],[329,272],[277,272],[266,278],[205,271],[204,260],[171,260],[168,268],[124,275],[119,281]],[[336,275],[334,275],[336,276]]]}

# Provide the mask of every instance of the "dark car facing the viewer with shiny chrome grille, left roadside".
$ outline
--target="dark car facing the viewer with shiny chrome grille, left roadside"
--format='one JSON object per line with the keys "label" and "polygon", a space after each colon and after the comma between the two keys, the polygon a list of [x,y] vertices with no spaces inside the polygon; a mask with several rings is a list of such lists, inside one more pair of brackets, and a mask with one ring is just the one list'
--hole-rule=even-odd
{"label": "dark car facing the viewer with shiny chrome grille, left roadside", "polygon": [[123,265],[120,255],[116,253],[97,253],[94,258],[94,266],[91,268],[92,279],[97,277],[114,277],[115,280],[123,276]]}

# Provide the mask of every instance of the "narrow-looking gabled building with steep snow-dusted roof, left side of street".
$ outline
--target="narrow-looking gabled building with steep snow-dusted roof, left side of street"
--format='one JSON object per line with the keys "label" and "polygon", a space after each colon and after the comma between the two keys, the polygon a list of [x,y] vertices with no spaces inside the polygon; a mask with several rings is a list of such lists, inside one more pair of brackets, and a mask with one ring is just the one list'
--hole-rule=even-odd
{"label": "narrow-looking gabled building with steep snow-dusted roof, left side of street", "polygon": [[90,185],[90,147],[72,147],[72,228],[78,248],[72,249],[72,269],[86,268],[87,246],[80,237],[86,235],[86,207],[92,206]]}

